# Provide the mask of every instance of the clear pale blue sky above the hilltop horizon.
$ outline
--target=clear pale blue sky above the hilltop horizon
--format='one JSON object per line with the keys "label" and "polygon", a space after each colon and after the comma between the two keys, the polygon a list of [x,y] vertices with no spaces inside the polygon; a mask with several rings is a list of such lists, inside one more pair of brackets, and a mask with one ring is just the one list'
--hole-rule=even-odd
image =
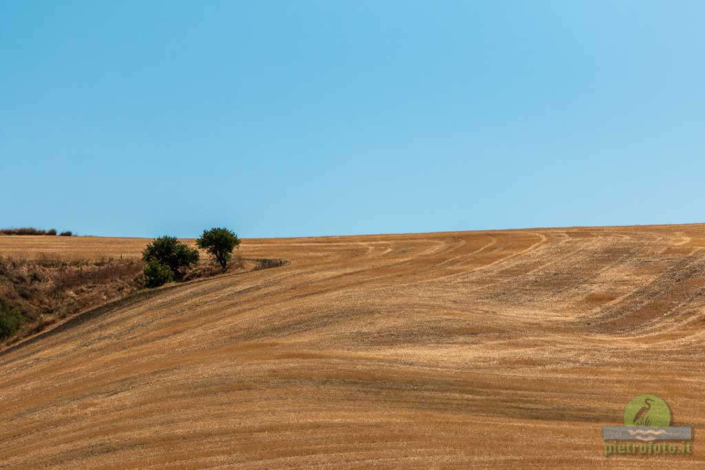
{"label": "clear pale blue sky above the hilltop horizon", "polygon": [[0,225],[705,219],[703,1],[2,1]]}

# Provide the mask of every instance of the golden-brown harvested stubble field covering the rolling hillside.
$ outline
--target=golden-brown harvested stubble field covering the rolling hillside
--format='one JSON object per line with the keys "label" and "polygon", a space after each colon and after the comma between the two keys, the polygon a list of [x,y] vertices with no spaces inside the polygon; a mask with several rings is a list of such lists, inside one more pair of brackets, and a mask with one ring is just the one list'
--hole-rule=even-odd
{"label": "golden-brown harvested stubble field covering the rolling hillside", "polygon": [[[0,237],[0,255],[149,240]],[[0,467],[698,467],[705,225],[245,240],[287,266],[0,352]],[[692,456],[603,457],[635,395]]]}

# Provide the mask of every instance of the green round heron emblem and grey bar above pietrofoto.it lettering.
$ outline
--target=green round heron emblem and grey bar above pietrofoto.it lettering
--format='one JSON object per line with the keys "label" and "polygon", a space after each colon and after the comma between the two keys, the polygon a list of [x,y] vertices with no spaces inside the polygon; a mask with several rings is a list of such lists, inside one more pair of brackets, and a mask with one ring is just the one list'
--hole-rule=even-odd
{"label": "green round heron emblem and grey bar above pietrofoto.it lettering", "polygon": [[602,428],[604,440],[690,440],[690,426],[670,426],[671,413],[666,400],[656,395],[632,398],[624,409],[624,426]]}

